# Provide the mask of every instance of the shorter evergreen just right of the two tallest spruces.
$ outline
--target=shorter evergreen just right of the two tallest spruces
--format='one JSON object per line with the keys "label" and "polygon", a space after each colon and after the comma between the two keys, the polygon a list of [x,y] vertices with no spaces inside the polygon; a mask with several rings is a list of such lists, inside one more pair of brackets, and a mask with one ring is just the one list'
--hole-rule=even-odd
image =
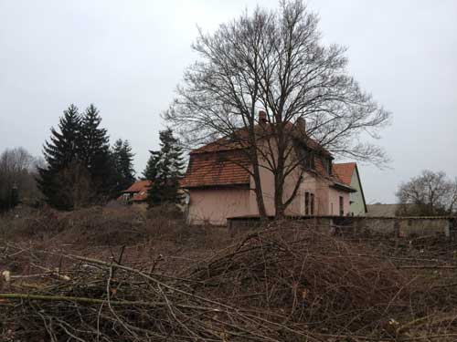
{"label": "shorter evergreen just right of the two tallest spruces", "polygon": [[128,140],[118,139],[112,146],[112,162],[115,177],[115,196],[127,189],[135,181],[133,170],[133,152]]}

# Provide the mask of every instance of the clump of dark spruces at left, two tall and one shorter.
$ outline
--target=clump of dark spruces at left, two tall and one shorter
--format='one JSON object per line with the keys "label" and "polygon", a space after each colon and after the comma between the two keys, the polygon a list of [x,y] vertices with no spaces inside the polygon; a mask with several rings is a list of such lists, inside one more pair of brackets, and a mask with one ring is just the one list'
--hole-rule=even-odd
{"label": "clump of dark spruces at left, two tall and one shorter", "polygon": [[128,140],[110,147],[94,105],[83,113],[74,105],[64,111],[45,142],[44,157],[37,185],[45,202],[60,210],[106,202],[135,180]]}

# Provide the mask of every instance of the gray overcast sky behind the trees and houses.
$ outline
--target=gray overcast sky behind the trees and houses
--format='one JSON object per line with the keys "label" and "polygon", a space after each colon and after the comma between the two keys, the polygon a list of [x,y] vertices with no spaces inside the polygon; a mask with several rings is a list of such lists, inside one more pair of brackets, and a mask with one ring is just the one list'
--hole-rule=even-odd
{"label": "gray overcast sky behind the trees and houses", "polygon": [[[206,31],[250,1],[0,0],[0,150],[41,153],[70,103],[101,109],[128,139],[138,175],[164,128],[197,25]],[[312,0],[325,43],[348,47],[349,70],[393,112],[379,140],[391,169],[360,165],[367,202],[394,202],[423,169],[457,176],[457,1]]]}

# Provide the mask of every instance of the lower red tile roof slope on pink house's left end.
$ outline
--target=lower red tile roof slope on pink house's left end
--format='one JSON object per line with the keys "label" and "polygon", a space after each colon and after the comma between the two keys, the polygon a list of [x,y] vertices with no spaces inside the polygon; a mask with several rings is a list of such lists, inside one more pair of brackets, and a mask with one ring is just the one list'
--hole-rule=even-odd
{"label": "lower red tile roof slope on pink house's left end", "polygon": [[190,155],[183,188],[244,185],[250,183],[250,162],[240,150],[219,150]]}

